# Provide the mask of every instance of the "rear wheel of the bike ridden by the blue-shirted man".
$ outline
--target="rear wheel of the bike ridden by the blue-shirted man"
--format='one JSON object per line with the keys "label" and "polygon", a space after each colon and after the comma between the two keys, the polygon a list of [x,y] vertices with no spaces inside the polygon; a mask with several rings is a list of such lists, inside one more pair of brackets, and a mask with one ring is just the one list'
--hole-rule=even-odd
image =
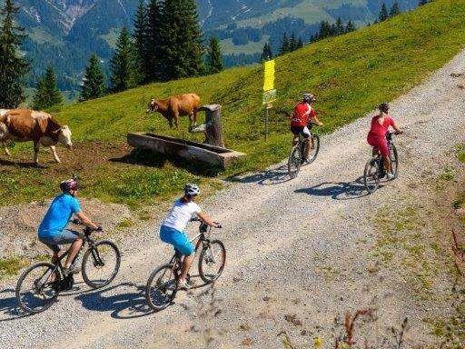
{"label": "rear wheel of the bike ridden by the blue-shirted man", "polygon": [[37,263],[31,265],[19,277],[15,294],[19,306],[30,314],[45,311],[59,294],[57,284],[60,277],[54,272],[54,264]]}

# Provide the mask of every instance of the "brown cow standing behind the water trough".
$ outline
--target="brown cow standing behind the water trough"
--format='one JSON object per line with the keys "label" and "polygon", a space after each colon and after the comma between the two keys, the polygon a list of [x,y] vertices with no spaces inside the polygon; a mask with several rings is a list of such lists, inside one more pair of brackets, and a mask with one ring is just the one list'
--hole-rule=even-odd
{"label": "brown cow standing behind the water trough", "polygon": [[152,98],[149,102],[147,113],[158,112],[163,115],[173,128],[179,128],[179,116],[189,115],[189,125],[197,124],[197,108],[200,105],[200,97],[195,94],[173,95],[166,99],[156,100]]}

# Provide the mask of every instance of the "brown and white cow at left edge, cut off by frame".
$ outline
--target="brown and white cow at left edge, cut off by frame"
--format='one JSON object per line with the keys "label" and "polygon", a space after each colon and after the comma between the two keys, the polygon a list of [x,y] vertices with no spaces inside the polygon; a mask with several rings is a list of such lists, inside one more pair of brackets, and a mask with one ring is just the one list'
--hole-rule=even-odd
{"label": "brown and white cow at left edge, cut off by frame", "polygon": [[52,115],[29,109],[0,109],[0,145],[5,146],[6,155],[10,155],[6,147],[9,141],[33,141],[34,162],[37,165],[40,145],[50,147],[57,163],[61,161],[54,145],[64,145],[68,149],[73,147],[68,126],[59,125]]}

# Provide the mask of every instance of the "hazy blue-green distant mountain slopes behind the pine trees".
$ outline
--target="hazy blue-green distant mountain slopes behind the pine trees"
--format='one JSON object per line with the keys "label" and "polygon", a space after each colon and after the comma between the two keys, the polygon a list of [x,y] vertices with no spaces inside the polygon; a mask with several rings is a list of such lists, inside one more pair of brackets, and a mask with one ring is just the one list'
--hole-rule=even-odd
{"label": "hazy blue-green distant mountain slopes behind the pine trees", "polygon": [[[390,6],[395,0],[386,0]],[[5,0],[0,0],[3,5]],[[205,36],[222,40],[223,53],[242,54],[243,60],[226,59],[228,64],[253,62],[265,41],[274,48],[282,32],[301,35],[304,42],[322,20],[337,17],[372,22],[382,0],[197,0],[199,21]],[[402,9],[413,8],[418,0],[400,0]],[[33,65],[28,84],[35,85],[45,66],[55,67],[60,88],[76,89],[89,55],[99,55],[107,65],[118,31],[133,26],[139,0],[15,0],[21,7],[19,23],[29,36],[24,43]],[[252,55],[252,56],[251,56]]]}

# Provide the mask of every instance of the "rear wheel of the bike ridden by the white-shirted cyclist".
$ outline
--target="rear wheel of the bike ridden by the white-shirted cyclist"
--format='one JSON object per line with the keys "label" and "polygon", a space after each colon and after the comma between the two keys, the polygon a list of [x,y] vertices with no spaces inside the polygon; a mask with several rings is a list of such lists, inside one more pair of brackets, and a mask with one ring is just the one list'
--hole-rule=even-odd
{"label": "rear wheel of the bike ridden by the white-shirted cyclist", "polygon": [[172,264],[164,264],[150,274],[145,287],[145,299],[153,310],[159,311],[173,302],[177,291],[178,275]]}

